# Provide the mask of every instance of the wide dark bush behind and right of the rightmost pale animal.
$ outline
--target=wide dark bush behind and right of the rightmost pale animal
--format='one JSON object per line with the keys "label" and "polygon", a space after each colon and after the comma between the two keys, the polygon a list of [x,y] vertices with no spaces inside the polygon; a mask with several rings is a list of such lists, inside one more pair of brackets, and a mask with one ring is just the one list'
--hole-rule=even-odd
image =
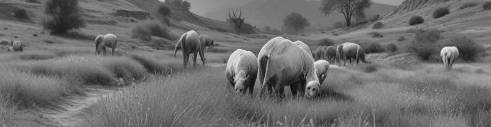
{"label": "wide dark bush behind and right of the rightmost pale animal", "polygon": [[468,37],[457,37],[449,42],[445,42],[443,46],[455,46],[458,49],[458,57],[464,61],[476,61],[479,58],[485,57],[486,49],[474,40]]}

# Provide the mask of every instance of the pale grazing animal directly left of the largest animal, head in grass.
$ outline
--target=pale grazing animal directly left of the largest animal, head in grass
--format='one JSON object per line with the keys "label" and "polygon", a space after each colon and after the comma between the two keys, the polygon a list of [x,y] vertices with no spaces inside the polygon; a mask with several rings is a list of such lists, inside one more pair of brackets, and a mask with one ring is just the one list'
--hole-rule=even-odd
{"label": "pale grazing animal directly left of the largest animal, head in grass", "polygon": [[227,61],[225,76],[235,91],[253,95],[257,78],[257,57],[251,51],[235,50]]}

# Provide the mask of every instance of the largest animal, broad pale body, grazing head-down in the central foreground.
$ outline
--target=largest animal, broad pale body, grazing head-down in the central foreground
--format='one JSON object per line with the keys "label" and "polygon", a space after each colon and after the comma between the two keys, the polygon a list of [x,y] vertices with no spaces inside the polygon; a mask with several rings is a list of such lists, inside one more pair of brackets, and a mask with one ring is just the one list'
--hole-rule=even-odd
{"label": "largest animal, broad pale body, grazing head-down in the central foreground", "polygon": [[276,37],[267,42],[258,54],[258,70],[260,96],[266,88],[273,88],[275,95],[283,99],[285,86],[290,86],[293,96],[298,91],[305,92],[308,98],[319,93],[314,58],[290,40]]}

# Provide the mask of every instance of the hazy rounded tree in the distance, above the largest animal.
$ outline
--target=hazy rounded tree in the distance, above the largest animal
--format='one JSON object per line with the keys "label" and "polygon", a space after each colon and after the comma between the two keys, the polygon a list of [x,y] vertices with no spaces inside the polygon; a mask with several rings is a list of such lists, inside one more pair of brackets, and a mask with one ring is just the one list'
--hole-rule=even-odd
{"label": "hazy rounded tree in the distance, above the largest animal", "polygon": [[310,26],[309,21],[298,13],[291,13],[283,19],[283,27],[288,34],[296,34],[297,31],[303,30],[305,27]]}

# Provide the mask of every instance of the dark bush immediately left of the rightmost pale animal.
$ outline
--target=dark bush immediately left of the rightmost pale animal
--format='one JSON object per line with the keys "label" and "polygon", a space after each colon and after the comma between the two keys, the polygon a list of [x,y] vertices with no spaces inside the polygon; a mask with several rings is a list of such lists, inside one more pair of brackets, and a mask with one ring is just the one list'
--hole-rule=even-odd
{"label": "dark bush immediately left of the rightmost pale animal", "polygon": [[437,53],[435,43],[442,38],[438,29],[418,29],[414,40],[408,45],[409,51],[418,54],[422,60],[430,60]]}

